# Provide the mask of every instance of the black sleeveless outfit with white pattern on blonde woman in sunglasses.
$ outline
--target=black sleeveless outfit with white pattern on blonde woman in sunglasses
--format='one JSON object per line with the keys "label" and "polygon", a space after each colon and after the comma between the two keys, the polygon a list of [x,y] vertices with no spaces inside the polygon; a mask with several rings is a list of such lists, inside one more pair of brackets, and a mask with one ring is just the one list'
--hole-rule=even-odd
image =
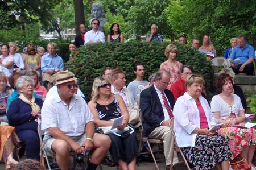
{"label": "black sleeveless outfit with white pattern on blonde woman in sunglasses", "polygon": [[[113,102],[106,106],[96,102],[96,110],[101,120],[110,121],[111,119],[121,117],[121,110],[115,96]],[[134,159],[134,156],[139,156],[137,135],[135,132],[126,137],[119,137],[115,134],[108,134],[108,136],[112,141],[109,151],[114,164],[117,164],[119,159],[129,164]]]}

